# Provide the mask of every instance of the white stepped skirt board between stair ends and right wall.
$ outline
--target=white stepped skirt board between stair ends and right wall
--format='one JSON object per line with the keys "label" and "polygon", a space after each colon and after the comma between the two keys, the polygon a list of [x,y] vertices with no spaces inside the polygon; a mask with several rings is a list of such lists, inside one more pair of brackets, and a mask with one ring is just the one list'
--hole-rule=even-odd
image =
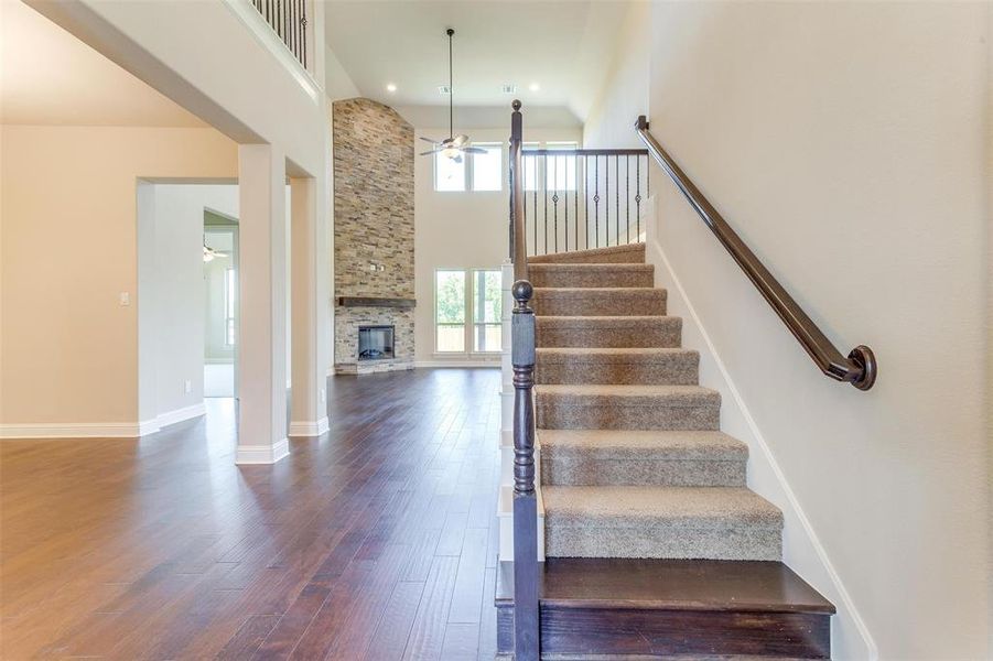
{"label": "white stepped skirt board between stair ends and right wall", "polygon": [[[645,260],[654,264],[655,286],[668,290],[667,314],[683,318],[682,346],[700,353],[700,384],[721,393],[721,430],[748,445],[748,487],[782,511],[782,562],[837,607],[831,649],[838,659],[878,659],[878,649],[813,525],[765,441],[748,407],[711,342],[700,316],[659,241],[658,198],[645,205]],[[704,382],[706,379],[706,382]]]}

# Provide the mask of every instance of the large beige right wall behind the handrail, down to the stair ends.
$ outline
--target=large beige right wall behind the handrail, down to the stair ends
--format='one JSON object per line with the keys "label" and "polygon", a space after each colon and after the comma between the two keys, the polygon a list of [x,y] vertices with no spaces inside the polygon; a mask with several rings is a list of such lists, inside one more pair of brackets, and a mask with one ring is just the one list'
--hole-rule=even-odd
{"label": "large beige right wall behind the handrail, down to the stair ends", "polygon": [[870,392],[821,376],[654,185],[659,281],[749,442],[749,484],[787,513],[787,561],[839,606],[839,659],[989,653],[991,8],[651,8],[654,134],[828,336],[879,361]]}

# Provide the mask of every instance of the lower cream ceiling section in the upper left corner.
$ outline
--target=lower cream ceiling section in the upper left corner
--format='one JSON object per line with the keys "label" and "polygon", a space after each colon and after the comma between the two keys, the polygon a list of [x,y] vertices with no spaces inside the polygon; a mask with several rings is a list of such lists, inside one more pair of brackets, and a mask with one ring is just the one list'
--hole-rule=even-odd
{"label": "lower cream ceiling section in the upper left corner", "polygon": [[19,0],[0,0],[0,121],[206,126]]}

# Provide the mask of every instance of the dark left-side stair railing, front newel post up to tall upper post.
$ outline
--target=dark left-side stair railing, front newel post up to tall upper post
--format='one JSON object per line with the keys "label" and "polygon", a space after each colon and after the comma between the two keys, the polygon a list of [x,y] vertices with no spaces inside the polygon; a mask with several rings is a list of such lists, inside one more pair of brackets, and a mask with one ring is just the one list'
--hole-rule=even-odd
{"label": "dark left-side stair railing, front newel post up to tall upper post", "polygon": [[528,304],[520,101],[510,117],[510,254],[514,313],[510,364],[514,368],[514,658],[538,661],[538,497],[535,491],[535,311]]}

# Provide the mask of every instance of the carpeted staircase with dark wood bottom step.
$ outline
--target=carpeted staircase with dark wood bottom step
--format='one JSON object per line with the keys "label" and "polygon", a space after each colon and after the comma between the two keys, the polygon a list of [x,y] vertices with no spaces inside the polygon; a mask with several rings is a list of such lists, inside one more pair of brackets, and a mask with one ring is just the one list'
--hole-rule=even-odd
{"label": "carpeted staircase with dark wood bottom step", "polygon": [[[833,606],[781,559],[644,243],[533,257],[548,659],[830,658]],[[512,649],[512,563],[497,581]]]}

